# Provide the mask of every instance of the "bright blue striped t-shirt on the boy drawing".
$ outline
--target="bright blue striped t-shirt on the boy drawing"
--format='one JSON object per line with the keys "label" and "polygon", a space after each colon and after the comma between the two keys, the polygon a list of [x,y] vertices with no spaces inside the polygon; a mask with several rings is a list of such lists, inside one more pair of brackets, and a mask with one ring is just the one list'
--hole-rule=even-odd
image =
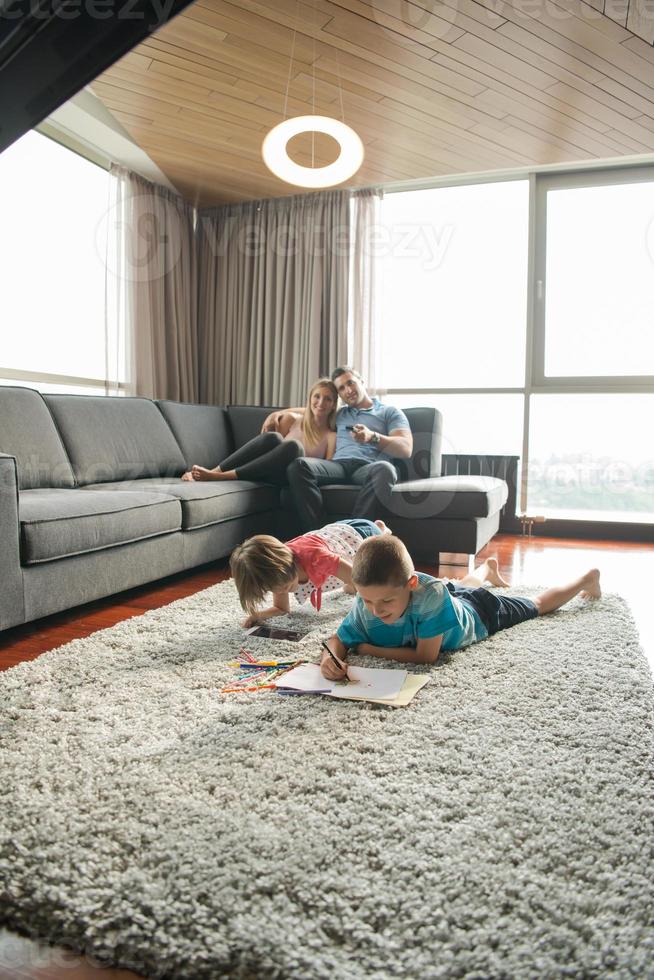
{"label": "bright blue striped t-shirt on the boy drawing", "polygon": [[409,605],[394,623],[383,623],[368,612],[357,595],[336,635],[345,646],[372,643],[376,647],[414,647],[418,640],[440,636],[441,650],[460,650],[483,640],[488,631],[475,610],[457,599],[432,575],[417,572],[418,586]]}

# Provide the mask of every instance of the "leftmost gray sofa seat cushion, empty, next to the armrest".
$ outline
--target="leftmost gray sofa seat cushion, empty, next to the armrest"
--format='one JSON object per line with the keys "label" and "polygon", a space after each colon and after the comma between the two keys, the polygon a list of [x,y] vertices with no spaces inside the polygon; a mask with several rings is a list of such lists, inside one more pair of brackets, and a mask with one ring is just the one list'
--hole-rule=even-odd
{"label": "leftmost gray sofa seat cushion, empty, next to the armrest", "polygon": [[83,489],[24,490],[19,519],[25,565],[178,531],[182,522],[172,497]]}

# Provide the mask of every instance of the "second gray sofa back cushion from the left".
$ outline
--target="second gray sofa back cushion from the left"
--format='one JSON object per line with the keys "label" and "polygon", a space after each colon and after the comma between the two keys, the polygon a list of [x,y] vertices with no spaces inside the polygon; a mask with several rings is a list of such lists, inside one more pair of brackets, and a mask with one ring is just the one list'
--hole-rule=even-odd
{"label": "second gray sofa back cushion from the left", "polygon": [[174,435],[148,398],[44,395],[77,483],[175,476],[185,461]]}

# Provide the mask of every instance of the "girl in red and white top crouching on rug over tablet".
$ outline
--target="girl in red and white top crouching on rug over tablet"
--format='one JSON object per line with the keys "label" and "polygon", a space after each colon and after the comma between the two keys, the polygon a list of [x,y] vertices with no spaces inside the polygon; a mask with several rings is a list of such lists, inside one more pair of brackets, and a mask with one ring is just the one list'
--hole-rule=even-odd
{"label": "girl in red and white top crouching on rug over tablet", "polygon": [[[290,612],[289,593],[299,603],[307,599],[315,609],[321,606],[322,593],[339,589],[354,593],[352,560],[367,538],[390,534],[383,521],[363,517],[326,524],[318,531],[301,534],[283,544],[270,534],[255,534],[232,552],[229,564],[243,609],[248,613],[245,627],[271,616]],[[497,560],[489,558],[474,573],[461,579],[459,585],[508,585],[497,570]],[[257,607],[268,592],[273,605]]]}

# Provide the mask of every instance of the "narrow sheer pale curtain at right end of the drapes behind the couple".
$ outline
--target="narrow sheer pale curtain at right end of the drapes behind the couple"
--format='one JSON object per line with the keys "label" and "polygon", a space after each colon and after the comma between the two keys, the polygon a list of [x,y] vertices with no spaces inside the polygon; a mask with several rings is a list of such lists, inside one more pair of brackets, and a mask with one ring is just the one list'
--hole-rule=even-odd
{"label": "narrow sheer pale curtain at right end of the drapes behind the couple", "polygon": [[377,322],[379,275],[373,242],[381,222],[379,188],[352,195],[352,252],[347,362],[364,378],[368,391],[383,394],[379,387],[382,351]]}

